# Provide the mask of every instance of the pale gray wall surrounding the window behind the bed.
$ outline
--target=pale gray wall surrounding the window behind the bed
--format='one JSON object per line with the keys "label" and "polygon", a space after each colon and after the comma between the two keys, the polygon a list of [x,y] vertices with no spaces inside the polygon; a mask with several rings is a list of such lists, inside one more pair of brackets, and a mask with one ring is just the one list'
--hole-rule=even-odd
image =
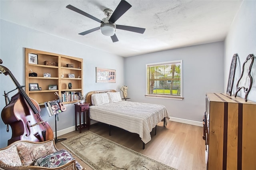
{"label": "pale gray wall surrounding the window behind the bed", "polygon": [[[145,97],[146,64],[162,61],[183,60],[182,101]],[[127,57],[125,84],[130,101],[155,103],[166,106],[170,117],[202,121],[205,111],[205,93],[223,92],[224,42],[159,51]]]}

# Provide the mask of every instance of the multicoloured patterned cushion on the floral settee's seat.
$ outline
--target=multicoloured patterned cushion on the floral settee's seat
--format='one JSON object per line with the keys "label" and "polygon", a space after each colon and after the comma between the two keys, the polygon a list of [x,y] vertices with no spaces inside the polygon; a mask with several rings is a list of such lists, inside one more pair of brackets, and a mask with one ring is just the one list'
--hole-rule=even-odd
{"label": "multicoloured patterned cushion on the floral settee's seat", "polygon": [[[71,156],[71,154],[67,150],[61,149],[61,150],[54,152],[50,155],[38,158],[35,161],[34,165],[47,167],[47,168],[56,168],[56,167],[66,164],[72,160],[74,160],[74,158]],[[82,170],[82,166],[78,162],[76,162],[76,168],[78,170]]]}

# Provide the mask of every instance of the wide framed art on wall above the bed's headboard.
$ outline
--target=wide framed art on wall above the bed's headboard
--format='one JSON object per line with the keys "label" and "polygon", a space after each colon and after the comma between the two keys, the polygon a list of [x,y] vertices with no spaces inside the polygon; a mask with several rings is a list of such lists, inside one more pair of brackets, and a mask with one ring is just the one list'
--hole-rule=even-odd
{"label": "wide framed art on wall above the bed's headboard", "polygon": [[96,67],[96,83],[116,83],[116,70]]}

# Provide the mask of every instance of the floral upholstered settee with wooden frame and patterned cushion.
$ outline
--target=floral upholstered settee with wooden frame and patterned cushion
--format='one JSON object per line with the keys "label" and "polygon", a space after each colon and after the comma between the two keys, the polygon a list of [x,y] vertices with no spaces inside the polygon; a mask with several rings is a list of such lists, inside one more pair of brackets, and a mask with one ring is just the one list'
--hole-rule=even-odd
{"label": "floral upholstered settee with wooden frame and patterned cushion", "polygon": [[85,170],[54,139],[45,142],[18,140],[0,149],[0,170]]}

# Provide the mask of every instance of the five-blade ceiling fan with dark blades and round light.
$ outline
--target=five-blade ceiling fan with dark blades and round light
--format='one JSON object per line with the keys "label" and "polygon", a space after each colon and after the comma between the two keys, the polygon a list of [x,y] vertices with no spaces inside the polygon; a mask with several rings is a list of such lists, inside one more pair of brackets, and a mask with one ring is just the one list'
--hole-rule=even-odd
{"label": "five-blade ceiling fan with dark blades and round light", "polygon": [[92,20],[95,20],[100,23],[100,27],[96,27],[91,30],[81,32],[81,33],[79,33],[80,35],[84,36],[91,32],[101,30],[103,35],[111,37],[112,42],[118,42],[118,38],[115,34],[116,29],[137,32],[140,34],[143,34],[145,32],[145,30],[146,30],[145,28],[116,25],[116,23],[115,23],[116,20],[118,20],[118,18],[120,18],[131,7],[132,6],[128,2],[126,2],[125,0],[121,0],[121,2],[118,4],[118,6],[116,7],[116,10],[114,10],[114,12],[110,9],[105,9],[104,13],[105,13],[106,18],[99,20],[98,18],[95,18],[94,16],[92,16],[92,15],[72,6],[72,5],[66,6],[66,8],[73,10],[74,12],[78,12],[79,14],[87,16],[88,18],[91,18]]}

